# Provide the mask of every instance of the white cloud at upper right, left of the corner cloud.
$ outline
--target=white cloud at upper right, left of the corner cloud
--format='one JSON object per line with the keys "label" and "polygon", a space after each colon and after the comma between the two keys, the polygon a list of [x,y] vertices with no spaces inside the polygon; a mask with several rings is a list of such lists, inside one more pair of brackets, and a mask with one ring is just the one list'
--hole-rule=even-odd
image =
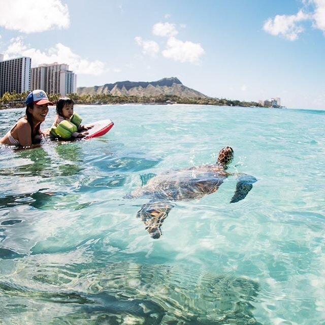
{"label": "white cloud at upper right, left of the corner cloud", "polygon": [[276,15],[274,19],[270,18],[265,22],[263,29],[271,35],[281,35],[290,41],[294,41],[304,30],[298,23],[309,18],[310,16],[301,10],[297,15]]}

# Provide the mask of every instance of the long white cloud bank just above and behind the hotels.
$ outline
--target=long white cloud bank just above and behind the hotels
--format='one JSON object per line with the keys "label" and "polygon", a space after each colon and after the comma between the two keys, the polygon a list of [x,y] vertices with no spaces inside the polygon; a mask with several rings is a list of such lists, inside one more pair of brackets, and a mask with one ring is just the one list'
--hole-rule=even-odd
{"label": "long white cloud bank just above and behind the hotels", "polygon": [[10,45],[4,53],[4,58],[8,59],[17,56],[31,57],[32,67],[37,67],[39,64],[43,63],[49,64],[58,62],[69,64],[69,69],[77,74],[98,76],[107,72],[105,63],[99,60],[89,61],[82,58],[80,55],[74,53],[68,46],[64,46],[61,43],[57,43],[54,47],[42,52],[41,50],[27,47],[23,43],[23,39],[18,37],[10,41]]}

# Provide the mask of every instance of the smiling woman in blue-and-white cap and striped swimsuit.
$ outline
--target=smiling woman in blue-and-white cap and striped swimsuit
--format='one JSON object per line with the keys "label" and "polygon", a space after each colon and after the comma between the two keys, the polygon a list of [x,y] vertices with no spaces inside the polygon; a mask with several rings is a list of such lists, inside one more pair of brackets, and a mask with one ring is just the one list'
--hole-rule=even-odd
{"label": "smiling woman in blue-and-white cap and striped swimsuit", "polygon": [[30,92],[26,98],[25,115],[18,119],[0,143],[22,147],[40,143],[44,137],[41,124],[49,111],[48,105],[53,105],[53,103],[49,101],[44,90],[37,89]]}

